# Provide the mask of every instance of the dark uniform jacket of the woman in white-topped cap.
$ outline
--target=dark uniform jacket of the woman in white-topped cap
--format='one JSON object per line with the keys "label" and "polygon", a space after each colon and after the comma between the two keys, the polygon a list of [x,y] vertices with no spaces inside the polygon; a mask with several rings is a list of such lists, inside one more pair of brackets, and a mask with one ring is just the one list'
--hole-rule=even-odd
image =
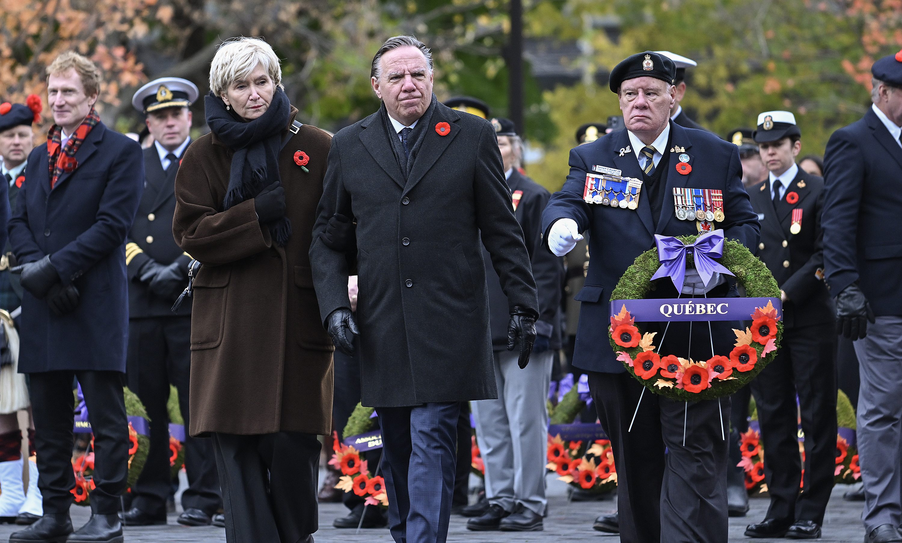
{"label": "dark uniform jacket of the woman in white-topped cap", "polygon": [[[795,193],[795,204],[787,196]],[[833,320],[830,294],[818,275],[824,268],[824,233],[821,213],[824,207],[824,179],[798,169],[775,208],[770,180],[749,189],[751,207],[761,223],[758,257],[768,265],[780,289],[787,293],[783,303],[783,323],[787,327],[822,324]],[[791,197],[789,197],[791,198]],[[802,210],[802,230],[789,231],[793,209]]]}

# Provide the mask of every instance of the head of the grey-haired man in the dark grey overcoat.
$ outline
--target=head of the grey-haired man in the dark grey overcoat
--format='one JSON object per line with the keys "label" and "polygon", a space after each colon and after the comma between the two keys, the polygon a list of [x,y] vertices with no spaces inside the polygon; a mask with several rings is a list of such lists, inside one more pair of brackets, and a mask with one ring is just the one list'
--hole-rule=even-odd
{"label": "head of the grey-haired man in the dark grey overcoat", "polygon": [[386,51],[379,60],[379,78],[371,82],[389,115],[401,124],[423,116],[432,100],[432,71],[423,52],[413,46]]}

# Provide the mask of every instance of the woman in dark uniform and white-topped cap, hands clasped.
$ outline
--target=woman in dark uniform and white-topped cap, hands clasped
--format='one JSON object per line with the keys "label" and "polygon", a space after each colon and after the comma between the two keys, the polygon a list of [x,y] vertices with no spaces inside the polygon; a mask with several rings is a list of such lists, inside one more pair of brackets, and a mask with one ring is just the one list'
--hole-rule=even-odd
{"label": "woman in dark uniform and white-topped cap, hands clasped", "polygon": [[[758,257],[783,299],[783,338],[777,358],[750,384],[768,451],[770,508],[745,535],[813,539],[821,536],[836,466],[835,318],[822,279],[824,179],[796,165],[802,133],[792,113],[760,114],[754,137],[769,178],[751,186],[749,197],[761,223]],[[797,453],[796,412],[805,432],[804,466]],[[799,486],[803,469],[805,492]]]}

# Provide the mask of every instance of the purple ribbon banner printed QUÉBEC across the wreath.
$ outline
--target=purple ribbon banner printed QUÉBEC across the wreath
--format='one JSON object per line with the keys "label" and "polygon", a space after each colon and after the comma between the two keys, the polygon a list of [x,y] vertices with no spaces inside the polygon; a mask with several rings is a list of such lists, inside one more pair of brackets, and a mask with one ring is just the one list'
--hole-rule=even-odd
{"label": "purple ribbon banner printed QU\u00c9BEC across the wreath", "polygon": [[768,302],[777,308],[777,315],[782,318],[783,306],[778,298],[614,299],[611,315],[617,315],[626,306],[638,322],[751,320],[755,308],[764,308]]}

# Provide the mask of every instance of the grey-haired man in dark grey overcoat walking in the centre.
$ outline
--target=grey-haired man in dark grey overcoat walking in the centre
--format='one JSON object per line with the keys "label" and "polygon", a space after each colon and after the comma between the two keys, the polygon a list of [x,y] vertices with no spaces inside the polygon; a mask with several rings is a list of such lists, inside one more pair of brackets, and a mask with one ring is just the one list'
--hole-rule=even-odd
{"label": "grey-haired man in dark grey overcoat walking in the centre", "polygon": [[373,59],[382,107],[333,139],[310,263],[336,346],[357,327],[345,253],[319,234],[356,220],[363,404],[379,413],[392,537],[444,542],[455,480],[459,402],[497,397],[482,240],[529,362],[536,286],[492,124],[438,103],[431,53],[411,36]]}

